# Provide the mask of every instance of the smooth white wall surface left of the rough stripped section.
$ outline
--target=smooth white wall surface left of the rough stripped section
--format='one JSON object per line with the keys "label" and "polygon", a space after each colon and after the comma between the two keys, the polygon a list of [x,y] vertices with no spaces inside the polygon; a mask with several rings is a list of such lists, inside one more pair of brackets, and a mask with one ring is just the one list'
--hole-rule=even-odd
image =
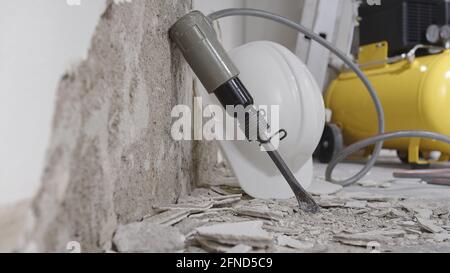
{"label": "smooth white wall surface left of the rough stripped section", "polygon": [[105,0],[0,1],[0,204],[36,191],[57,83],[86,55],[104,6]]}

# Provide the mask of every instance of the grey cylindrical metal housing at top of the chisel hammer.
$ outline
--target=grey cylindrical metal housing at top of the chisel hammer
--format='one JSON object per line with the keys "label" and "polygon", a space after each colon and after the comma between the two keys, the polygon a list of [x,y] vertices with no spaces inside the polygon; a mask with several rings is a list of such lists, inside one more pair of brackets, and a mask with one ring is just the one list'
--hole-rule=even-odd
{"label": "grey cylindrical metal housing at top of the chisel hammer", "polygon": [[217,39],[211,21],[200,11],[192,11],[180,18],[170,28],[169,36],[209,93],[239,75]]}

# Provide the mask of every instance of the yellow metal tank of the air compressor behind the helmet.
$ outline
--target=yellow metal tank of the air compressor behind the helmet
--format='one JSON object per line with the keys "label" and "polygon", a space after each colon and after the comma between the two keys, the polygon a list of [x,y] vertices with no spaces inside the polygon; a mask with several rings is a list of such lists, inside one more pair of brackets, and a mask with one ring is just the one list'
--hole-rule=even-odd
{"label": "yellow metal tank of the air compressor behind the helmet", "polygon": [[[416,51],[423,49],[435,52],[416,57]],[[387,42],[379,42],[360,48],[359,65],[381,100],[386,132],[425,130],[450,135],[450,50],[418,45],[407,54],[388,58]],[[335,146],[340,137],[337,131],[342,132],[345,145],[377,134],[375,106],[353,72],[344,71],[331,83],[325,105],[332,111],[327,127]],[[413,165],[427,164],[432,151],[441,152],[439,161],[450,159],[449,144],[429,139],[389,140],[383,147],[397,150],[403,162]]]}

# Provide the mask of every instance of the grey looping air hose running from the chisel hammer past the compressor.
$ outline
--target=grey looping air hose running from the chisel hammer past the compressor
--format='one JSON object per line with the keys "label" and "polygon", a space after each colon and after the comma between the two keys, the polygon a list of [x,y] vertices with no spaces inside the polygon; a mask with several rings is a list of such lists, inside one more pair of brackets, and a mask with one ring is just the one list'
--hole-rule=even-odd
{"label": "grey looping air hose running from the chisel hammer past the compressor", "polygon": [[[361,79],[363,84],[365,85],[367,91],[370,94],[370,97],[375,105],[377,118],[378,118],[378,135],[374,137],[370,137],[367,139],[364,139],[362,141],[356,142],[345,149],[343,149],[336,157],[334,157],[331,162],[328,164],[326,172],[325,172],[325,178],[327,181],[330,181],[332,183],[340,184],[342,186],[349,186],[357,181],[359,181],[361,178],[363,178],[369,171],[372,169],[372,167],[375,165],[378,156],[380,154],[381,149],[383,148],[383,141],[394,139],[394,138],[404,138],[404,137],[420,137],[420,138],[429,138],[429,139],[435,139],[442,142],[447,142],[450,144],[450,137],[434,132],[428,132],[428,131],[396,131],[396,132],[390,132],[385,133],[384,126],[385,126],[385,120],[384,120],[384,112],[383,107],[381,105],[381,101],[378,98],[378,95],[373,88],[372,84],[370,83],[369,79],[364,75],[364,73],[361,71],[361,69],[358,67],[357,64],[353,62],[349,57],[346,56],[345,53],[340,51],[338,48],[333,46],[331,43],[329,43],[324,38],[320,37],[316,33],[308,30],[304,26],[293,22],[283,16],[267,12],[264,10],[258,10],[258,9],[248,9],[248,8],[233,8],[233,9],[224,9],[219,10],[216,12],[211,13],[208,17],[211,19],[211,21],[215,21],[224,17],[229,16],[253,16],[253,17],[259,17],[264,18],[268,20],[272,20],[281,24],[284,24],[288,27],[291,27],[301,33],[303,33],[308,38],[316,41],[323,47],[330,50],[333,54],[335,54],[337,57],[339,57],[350,69],[352,69],[355,74]],[[355,175],[344,179],[344,180],[336,180],[332,177],[333,170],[335,167],[342,162],[347,156],[361,150],[364,147],[374,145],[375,148],[373,150],[372,155],[370,156],[370,159],[366,162],[364,167]]]}

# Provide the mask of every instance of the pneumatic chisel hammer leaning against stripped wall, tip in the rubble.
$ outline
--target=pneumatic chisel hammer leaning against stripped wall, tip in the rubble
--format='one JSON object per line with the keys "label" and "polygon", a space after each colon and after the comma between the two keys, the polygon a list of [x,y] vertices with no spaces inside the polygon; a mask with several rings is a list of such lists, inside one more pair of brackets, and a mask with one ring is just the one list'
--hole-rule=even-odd
{"label": "pneumatic chisel hammer leaning against stripped wall, tip in the rubble", "polygon": [[235,116],[241,129],[247,131],[248,128],[258,128],[256,140],[265,146],[268,155],[294,192],[300,208],[309,212],[318,211],[319,206],[297,181],[279,152],[273,149],[270,142],[264,141],[270,137],[262,128],[269,124],[259,116],[253,97],[240,81],[239,70],[218,41],[209,18],[199,11],[190,12],[171,27],[169,34],[208,93],[213,93],[225,108],[231,105],[246,109],[245,120],[239,120],[239,115]]}

